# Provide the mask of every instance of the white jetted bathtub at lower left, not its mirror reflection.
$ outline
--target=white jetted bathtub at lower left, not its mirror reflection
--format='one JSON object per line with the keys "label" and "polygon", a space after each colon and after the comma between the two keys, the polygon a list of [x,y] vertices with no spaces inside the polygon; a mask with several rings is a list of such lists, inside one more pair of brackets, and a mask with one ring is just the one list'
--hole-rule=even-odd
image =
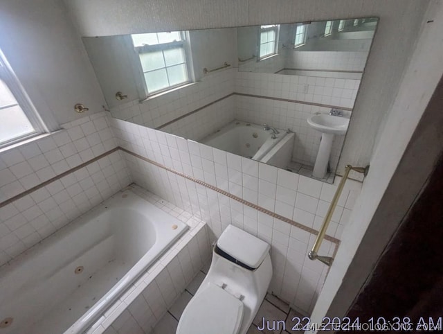
{"label": "white jetted bathtub at lower left, not its mirror reflection", "polygon": [[0,268],[0,333],[82,333],[186,229],[117,193]]}

